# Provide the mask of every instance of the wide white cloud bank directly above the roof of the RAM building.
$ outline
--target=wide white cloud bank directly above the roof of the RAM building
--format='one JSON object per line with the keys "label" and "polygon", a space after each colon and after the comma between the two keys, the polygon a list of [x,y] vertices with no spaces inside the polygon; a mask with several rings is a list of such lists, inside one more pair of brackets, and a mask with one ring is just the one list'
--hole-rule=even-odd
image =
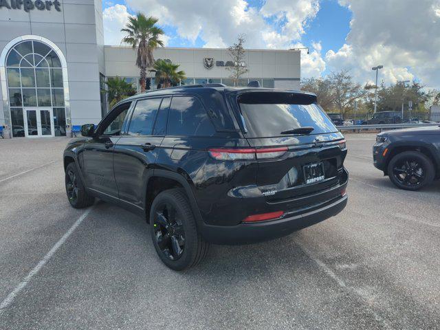
{"label": "wide white cloud bank directly above the roof of the RAM building", "polygon": [[[261,10],[245,0],[126,0],[135,11],[146,12],[162,25],[173,26],[179,37],[195,42],[201,38],[205,47],[226,47],[236,37],[246,35],[246,47],[286,49],[299,41],[307,21],[318,11],[318,0],[267,0]],[[278,8],[283,8],[279,10]],[[267,23],[285,21],[278,26]]]}

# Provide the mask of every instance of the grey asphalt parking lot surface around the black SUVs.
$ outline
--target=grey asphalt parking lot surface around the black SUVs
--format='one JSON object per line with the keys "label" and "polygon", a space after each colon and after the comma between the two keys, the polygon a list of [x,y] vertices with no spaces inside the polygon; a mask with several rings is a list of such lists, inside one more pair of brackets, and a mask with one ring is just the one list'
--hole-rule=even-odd
{"label": "grey asphalt parking lot surface around the black SUVs", "polygon": [[[349,204],[187,272],[144,219],[65,197],[65,138],[0,140],[0,329],[440,329],[440,184],[397,190],[347,135]],[[85,212],[88,212],[85,214]]]}

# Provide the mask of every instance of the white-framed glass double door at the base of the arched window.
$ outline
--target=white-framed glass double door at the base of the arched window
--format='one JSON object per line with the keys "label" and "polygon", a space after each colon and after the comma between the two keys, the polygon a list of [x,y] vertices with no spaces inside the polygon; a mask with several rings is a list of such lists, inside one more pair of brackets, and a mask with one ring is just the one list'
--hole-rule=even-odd
{"label": "white-framed glass double door at the base of the arched window", "polygon": [[55,136],[54,114],[51,108],[25,109],[25,136],[52,137]]}

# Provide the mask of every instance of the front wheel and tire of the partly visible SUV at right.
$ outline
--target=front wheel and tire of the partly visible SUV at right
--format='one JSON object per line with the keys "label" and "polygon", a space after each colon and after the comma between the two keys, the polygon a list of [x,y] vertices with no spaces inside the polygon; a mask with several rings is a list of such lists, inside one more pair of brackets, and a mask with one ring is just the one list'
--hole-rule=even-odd
{"label": "front wheel and tire of the partly visible SUV at right", "polygon": [[434,176],[431,159],[419,151],[398,153],[388,164],[391,182],[404,190],[415,191],[426,187],[434,180]]}

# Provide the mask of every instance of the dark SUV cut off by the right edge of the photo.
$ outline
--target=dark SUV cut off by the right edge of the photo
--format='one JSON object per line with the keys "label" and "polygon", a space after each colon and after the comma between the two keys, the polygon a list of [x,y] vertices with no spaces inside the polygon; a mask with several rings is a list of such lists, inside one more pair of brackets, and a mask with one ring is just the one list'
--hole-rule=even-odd
{"label": "dark SUV cut off by the right edge of the photo", "polygon": [[373,164],[401,189],[419,190],[440,177],[440,127],[380,133]]}

